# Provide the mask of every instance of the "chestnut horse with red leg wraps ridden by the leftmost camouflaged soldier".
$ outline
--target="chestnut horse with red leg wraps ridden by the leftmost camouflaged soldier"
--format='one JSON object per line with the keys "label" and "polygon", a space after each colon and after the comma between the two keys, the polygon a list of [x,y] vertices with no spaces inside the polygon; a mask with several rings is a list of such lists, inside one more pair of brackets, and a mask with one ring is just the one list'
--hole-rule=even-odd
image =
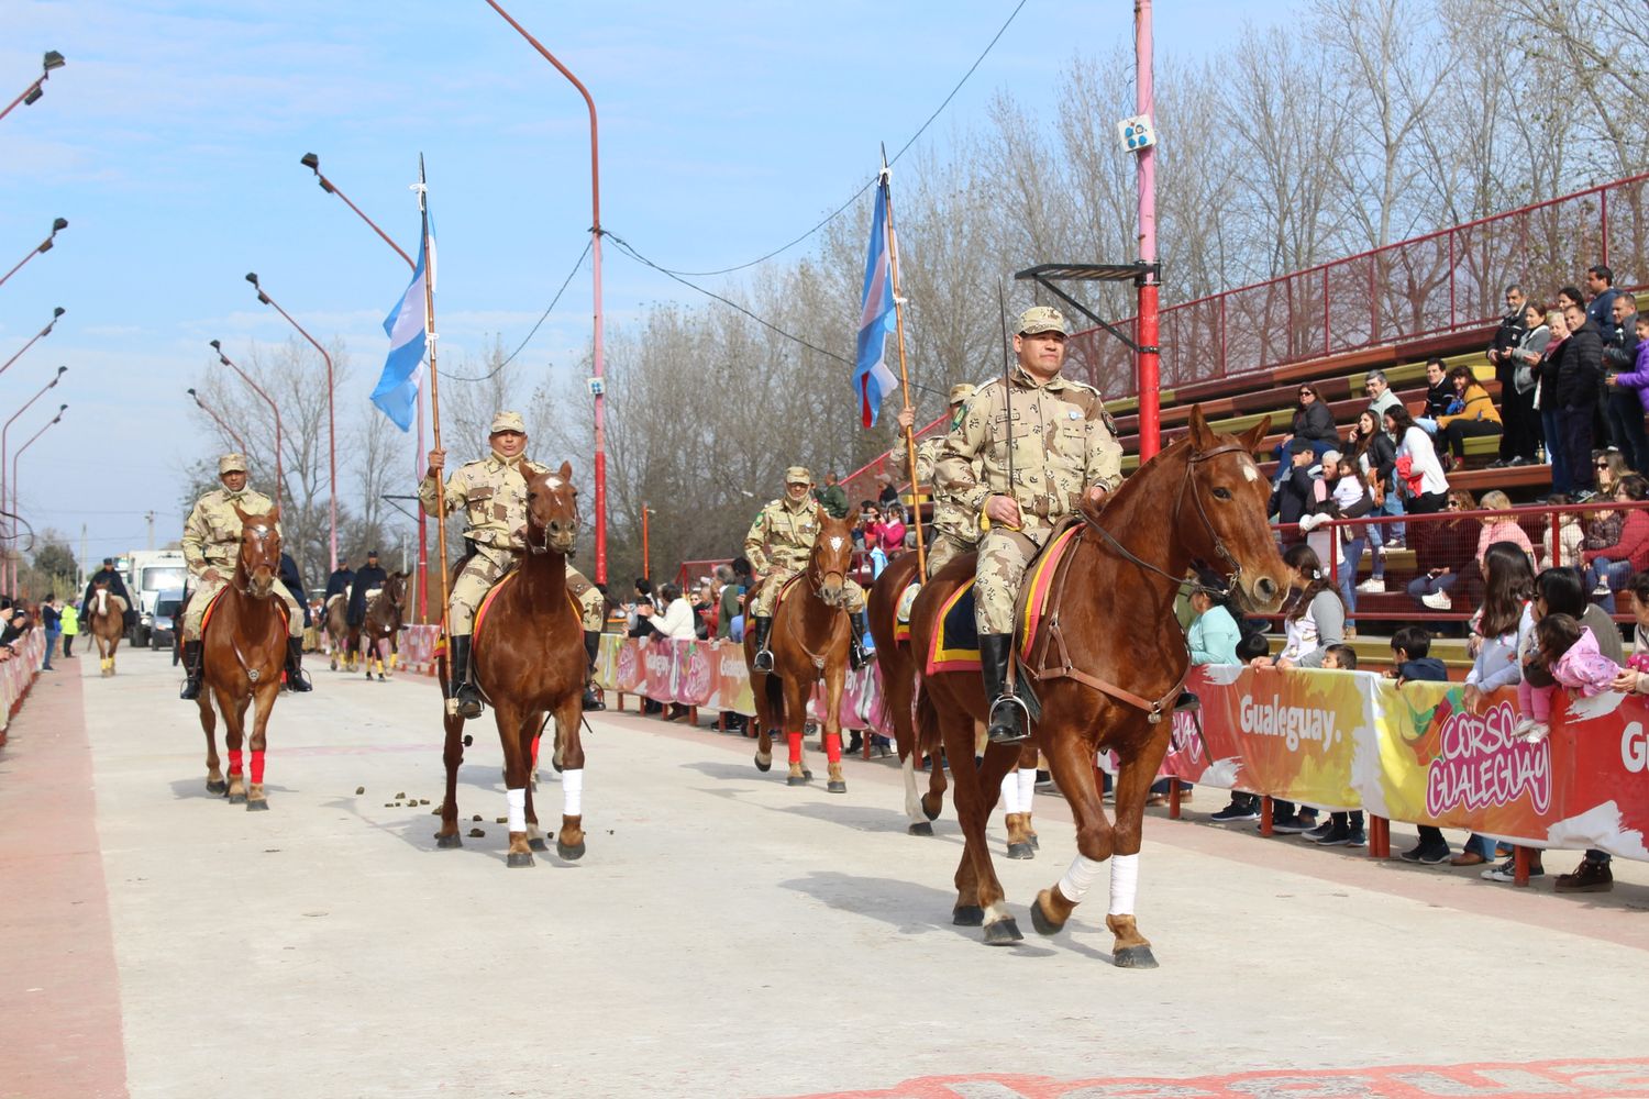
{"label": "chestnut horse with red leg wraps ridden by the leftmost camouflaged soldier", "polygon": [[[241,554],[234,575],[201,628],[201,674],[204,690],[198,705],[206,732],[206,789],[229,794],[229,804],[246,802],[249,811],[269,809],[264,794],[264,745],[269,713],[280,695],[280,671],[287,662],[287,608],[274,593],[280,575],[280,509],[249,516],[239,507]],[[218,771],[218,717],[223,713],[224,746],[229,750],[229,781]],[[241,741],[246,737],[246,707],[256,704],[251,751],[252,781],[241,769]]]}

